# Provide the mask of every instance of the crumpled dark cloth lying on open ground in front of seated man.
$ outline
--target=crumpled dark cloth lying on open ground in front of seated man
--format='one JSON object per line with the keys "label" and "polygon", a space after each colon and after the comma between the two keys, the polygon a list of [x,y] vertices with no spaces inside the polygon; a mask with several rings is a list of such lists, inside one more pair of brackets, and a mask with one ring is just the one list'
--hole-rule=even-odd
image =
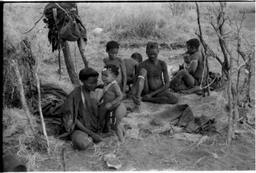
{"label": "crumpled dark cloth lying on open ground in front of seated man", "polygon": [[170,109],[160,113],[153,119],[155,125],[163,125],[172,122],[173,124],[183,127],[188,133],[216,132],[214,119],[207,116],[194,117],[188,104],[180,104],[170,107]]}

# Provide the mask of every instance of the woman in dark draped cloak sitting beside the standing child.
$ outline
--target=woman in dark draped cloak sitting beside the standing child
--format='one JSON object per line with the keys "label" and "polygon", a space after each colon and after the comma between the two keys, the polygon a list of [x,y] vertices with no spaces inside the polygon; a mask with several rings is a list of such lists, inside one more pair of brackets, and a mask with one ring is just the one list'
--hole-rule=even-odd
{"label": "woman in dark draped cloak sitting beside the standing child", "polygon": [[83,85],[76,87],[57,111],[65,129],[59,137],[72,140],[74,148],[79,150],[88,148],[93,141],[98,143],[102,140],[96,134],[99,129],[98,107],[91,96],[98,76],[92,68],[82,69],[79,80]]}

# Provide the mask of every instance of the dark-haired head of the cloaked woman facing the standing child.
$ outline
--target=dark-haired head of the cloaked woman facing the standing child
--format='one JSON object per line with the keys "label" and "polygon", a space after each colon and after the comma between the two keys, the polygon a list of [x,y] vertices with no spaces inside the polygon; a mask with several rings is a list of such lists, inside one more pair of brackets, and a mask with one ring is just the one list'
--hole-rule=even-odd
{"label": "dark-haired head of the cloaked woman facing the standing child", "polygon": [[79,80],[89,91],[94,91],[98,82],[99,73],[92,68],[82,69],[79,72]]}

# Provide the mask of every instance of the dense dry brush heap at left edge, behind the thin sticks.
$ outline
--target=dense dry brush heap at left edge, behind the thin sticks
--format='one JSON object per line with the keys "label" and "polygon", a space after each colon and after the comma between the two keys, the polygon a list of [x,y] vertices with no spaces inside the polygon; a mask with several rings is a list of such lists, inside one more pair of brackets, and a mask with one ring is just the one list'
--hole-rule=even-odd
{"label": "dense dry brush heap at left edge, behind the thin sticks", "polygon": [[4,16],[4,39],[3,39],[3,103],[4,106],[20,107],[20,99],[17,88],[17,79],[11,67],[12,60],[16,60],[23,79],[25,96],[29,99],[33,89],[32,67],[35,63],[30,43],[27,38],[22,38],[19,31],[15,29],[12,18],[5,13]]}

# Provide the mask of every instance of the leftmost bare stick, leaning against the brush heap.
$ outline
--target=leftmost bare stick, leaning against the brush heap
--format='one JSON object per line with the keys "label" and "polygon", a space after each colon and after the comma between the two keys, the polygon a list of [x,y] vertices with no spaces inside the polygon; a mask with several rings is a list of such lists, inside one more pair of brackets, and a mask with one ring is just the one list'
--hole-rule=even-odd
{"label": "leftmost bare stick, leaning against the brush heap", "polygon": [[20,95],[20,100],[22,102],[22,107],[23,107],[23,109],[25,111],[25,114],[27,115],[31,131],[35,135],[35,127],[34,127],[35,122],[30,118],[31,115],[30,115],[30,112],[29,112],[29,109],[28,109],[28,105],[27,105],[27,102],[26,102],[26,99],[25,99],[23,83],[22,83],[22,77],[20,76],[18,65],[17,65],[17,63],[14,60],[12,60],[12,64],[11,65],[12,65],[12,67],[13,67],[15,73],[16,73],[17,79],[18,79],[19,95]]}

